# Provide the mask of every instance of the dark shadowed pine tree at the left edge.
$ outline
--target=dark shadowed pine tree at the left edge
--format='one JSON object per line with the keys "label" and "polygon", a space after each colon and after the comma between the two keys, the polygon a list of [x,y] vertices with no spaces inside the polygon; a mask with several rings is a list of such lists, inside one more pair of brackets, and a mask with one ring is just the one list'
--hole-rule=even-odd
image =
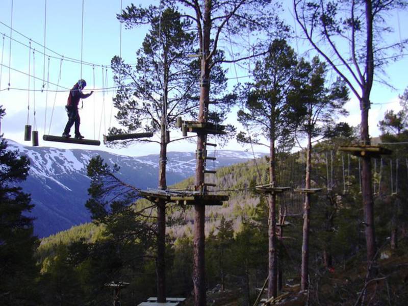
{"label": "dark shadowed pine tree at the left edge", "polygon": [[[0,106],[0,119],[5,111]],[[35,299],[37,271],[30,194],[18,186],[28,176],[30,161],[8,149],[0,136],[0,304],[15,305]],[[25,215],[24,215],[25,214]]]}

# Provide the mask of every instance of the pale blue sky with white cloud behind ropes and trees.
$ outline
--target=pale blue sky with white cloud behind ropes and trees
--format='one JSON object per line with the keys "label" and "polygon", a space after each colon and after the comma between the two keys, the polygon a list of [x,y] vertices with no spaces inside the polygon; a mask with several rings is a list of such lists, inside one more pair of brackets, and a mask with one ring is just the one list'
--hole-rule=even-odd
{"label": "pale blue sky with white cloud behind ropes and trees", "polygon": [[[122,0],[122,7],[129,5],[131,1]],[[134,1],[136,5],[149,3],[159,4],[159,1]],[[286,2],[287,5],[291,2]],[[2,0],[0,2],[0,52],[2,52],[3,37],[4,52],[1,54],[3,64],[8,66],[9,61],[13,69],[21,72],[29,72],[29,39],[12,33],[12,38],[17,41],[12,41],[11,44],[11,59],[10,59],[10,29],[7,26],[11,24],[11,4],[12,0]],[[14,0],[13,2],[13,20],[12,27],[24,36],[31,38],[33,41],[44,44],[44,13],[45,0]],[[84,40],[82,55],[83,61],[95,64],[82,65],[82,78],[86,79],[88,86],[86,89],[93,88],[93,73],[95,73],[95,88],[113,87],[112,74],[100,67],[100,65],[109,65],[110,60],[114,55],[119,55],[120,48],[120,23],[116,19],[116,13],[120,11],[120,0],[85,0],[84,6]],[[287,11],[291,11],[290,7],[286,7]],[[81,58],[81,25],[82,25],[82,0],[71,0],[69,4],[64,0],[48,0],[46,14],[46,39],[45,45],[50,50],[46,50],[47,55],[52,55],[56,58],[49,60],[49,82],[58,83],[60,55],[66,58],[80,59]],[[286,12],[286,22],[292,27],[294,25],[293,17]],[[399,35],[404,35],[403,29],[408,25],[408,13],[400,12],[398,15],[390,16],[395,27],[395,37],[398,39]],[[125,30],[122,28],[122,57],[127,63],[134,63],[136,61],[135,52],[141,46],[141,42],[146,33],[147,28],[138,28],[132,30]],[[299,32],[299,29],[297,29]],[[3,36],[5,34],[5,36]],[[300,34],[300,33],[298,33]],[[402,37],[404,38],[404,37]],[[22,44],[21,44],[22,43]],[[296,41],[292,42],[296,50]],[[302,44],[302,41],[297,41],[299,50],[309,48],[307,44]],[[35,76],[40,80],[35,80],[35,89],[41,89],[42,79],[44,74],[44,58],[40,52],[43,52],[43,47],[32,43],[32,47],[36,48],[35,65],[33,65],[33,57],[31,55],[30,73],[35,72]],[[227,48],[227,46],[225,47]],[[226,50],[227,51],[227,50]],[[228,51],[227,51],[228,52]],[[407,53],[407,52],[405,52]],[[47,79],[47,65],[48,60],[45,59],[45,80]],[[235,77],[235,70],[232,65],[226,66],[230,70],[229,77]],[[408,68],[408,57],[403,57],[397,63],[393,63],[386,68],[388,75],[387,81],[392,84],[396,90],[392,90],[380,83],[376,83],[371,96],[373,106],[370,110],[370,134],[371,136],[378,135],[376,123],[382,119],[384,112],[387,109],[398,109],[398,95],[408,86],[405,69]],[[33,71],[34,70],[34,71]],[[10,78],[11,88],[27,89],[29,78],[21,72],[11,70],[6,67],[2,68],[2,79],[0,89],[7,88]],[[108,73],[108,79],[105,80],[103,86],[102,75]],[[246,75],[247,71],[238,69],[238,76]],[[79,63],[63,61],[61,80],[59,81],[59,90],[64,88],[71,88],[72,85],[81,77],[81,65]],[[333,75],[333,78],[335,75]],[[236,80],[230,80],[230,85],[236,84]],[[30,79],[30,88],[34,88],[34,79]],[[56,86],[50,86],[49,90],[55,90]],[[86,91],[85,91],[86,92]],[[113,118],[115,110],[112,109],[112,90],[98,91],[94,96],[84,100],[84,109],[80,111],[82,123],[81,132],[86,138],[101,139],[101,135],[106,133],[111,125],[115,125]],[[6,138],[13,139],[17,142],[30,145],[30,142],[23,141],[24,125],[27,122],[27,106],[28,99],[30,99],[30,123],[33,125],[34,121],[34,101],[36,106],[36,123],[39,134],[60,135],[66,123],[66,114],[64,105],[66,103],[68,93],[59,92],[55,95],[54,92],[29,92],[25,90],[3,90],[0,91],[0,104],[2,104],[7,111],[7,116],[2,121],[2,133]],[[55,107],[53,112],[53,104]],[[47,105],[47,108],[45,107]],[[360,121],[360,112],[358,103],[355,98],[352,98],[347,104],[347,109],[350,116],[345,121],[355,125]],[[53,121],[50,125],[50,114],[53,112]],[[46,116],[45,116],[46,114]],[[229,121],[236,123],[236,110],[230,115]],[[44,124],[45,123],[45,124]],[[172,132],[172,136],[175,132]],[[174,135],[175,136],[175,135]],[[41,138],[41,137],[40,137]],[[56,146],[63,148],[87,148],[96,149],[96,147],[67,145],[59,143],[44,142],[40,139],[41,146]],[[226,149],[242,149],[236,141],[228,144]],[[159,151],[158,145],[154,144],[135,144],[129,148],[109,149],[105,146],[100,146],[98,149],[114,151],[123,155],[147,155],[157,154]],[[168,150],[170,151],[193,151],[195,144],[192,142],[179,142],[170,144]],[[265,150],[265,148],[258,147],[257,151]]]}

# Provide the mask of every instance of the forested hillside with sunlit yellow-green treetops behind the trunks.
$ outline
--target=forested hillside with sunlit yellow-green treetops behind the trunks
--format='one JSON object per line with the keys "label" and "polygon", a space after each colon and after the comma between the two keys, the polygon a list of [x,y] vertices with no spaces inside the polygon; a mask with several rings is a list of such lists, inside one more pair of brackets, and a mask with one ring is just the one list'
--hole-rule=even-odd
{"label": "forested hillside with sunlit yellow-green treetops behind the trunks", "polygon": [[[323,304],[352,304],[359,299],[359,292],[365,286],[365,269],[361,264],[364,262],[365,243],[361,233],[364,224],[361,221],[359,162],[356,157],[336,150],[337,145],[334,142],[322,143],[315,147],[313,155],[313,186],[323,190],[312,197],[311,291],[308,297],[311,304],[319,301],[325,301]],[[405,218],[408,173],[406,157],[401,154],[398,150],[397,156],[378,160],[374,172],[378,212],[376,231],[380,247],[377,285],[372,285],[373,282],[367,284],[370,288],[367,294],[380,304],[391,301],[391,304],[403,305],[402,301],[408,298],[405,285],[401,283],[401,279],[408,275],[408,223]],[[396,161],[398,172],[395,172]],[[291,188],[303,186],[303,152],[279,155],[278,164],[281,165],[279,185]],[[259,293],[255,289],[262,287],[265,281],[268,209],[265,198],[257,194],[254,187],[265,182],[267,165],[268,160],[262,158],[221,168],[216,175],[214,182],[222,188],[213,189],[222,189],[220,192],[230,194],[231,198],[222,207],[210,207],[206,217],[207,282],[209,290],[215,288],[213,293],[209,292],[215,300],[253,303]],[[191,184],[192,179],[188,179],[171,188],[184,189]],[[279,197],[278,203],[285,215],[278,256],[282,261],[282,290],[287,292],[289,285],[297,286],[300,281],[302,198],[291,190]],[[148,206],[148,202],[140,200],[135,206]],[[152,213],[155,214],[155,210]],[[168,296],[188,297],[192,290],[192,213],[191,207],[168,204]],[[73,298],[73,292],[80,290],[85,299],[86,296],[89,299],[97,296],[100,303],[108,303],[110,291],[102,285],[109,281],[125,281],[131,285],[122,291],[123,304],[154,296],[155,239],[148,234],[137,236],[139,238],[135,241],[126,240],[136,237],[133,232],[137,228],[142,230],[143,226],[134,220],[123,223],[125,220],[125,216],[117,217],[116,221],[108,222],[107,227],[82,225],[44,239],[37,258],[41,263],[46,292],[56,290],[54,292],[72,295]],[[394,241],[396,245],[391,248],[390,237],[395,226],[399,236]],[[149,240],[140,240],[140,237]],[[60,279],[62,283],[58,288],[51,283],[46,284],[61,275],[70,276]],[[224,293],[220,294],[221,291]],[[293,299],[305,298],[295,293],[290,296]]]}

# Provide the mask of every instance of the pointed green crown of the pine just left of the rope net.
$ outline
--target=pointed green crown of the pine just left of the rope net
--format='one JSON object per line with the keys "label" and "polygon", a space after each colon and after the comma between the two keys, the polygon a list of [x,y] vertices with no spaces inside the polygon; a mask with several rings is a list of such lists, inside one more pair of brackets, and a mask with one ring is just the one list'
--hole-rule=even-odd
{"label": "pointed green crown of the pine just left of the rope net", "polygon": [[259,143],[259,136],[263,136],[284,147],[291,143],[287,95],[293,90],[296,65],[296,54],[286,40],[275,39],[267,56],[253,70],[254,82],[243,89],[244,108],[238,111],[238,121],[250,129],[251,135],[240,132],[238,141]]}

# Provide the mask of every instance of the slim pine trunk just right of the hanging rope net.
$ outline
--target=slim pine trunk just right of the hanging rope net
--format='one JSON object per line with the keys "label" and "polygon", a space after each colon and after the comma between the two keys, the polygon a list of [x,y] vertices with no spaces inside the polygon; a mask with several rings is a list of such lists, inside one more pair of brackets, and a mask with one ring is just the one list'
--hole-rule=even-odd
{"label": "slim pine trunk just right of the hanging rope net", "polygon": [[[305,188],[310,189],[310,172],[312,155],[312,137],[308,134],[308,149],[306,152],[306,176]],[[310,193],[306,192],[304,196],[303,207],[303,240],[302,240],[302,266],[300,275],[300,289],[307,290],[309,288],[309,227],[310,227]]]}

